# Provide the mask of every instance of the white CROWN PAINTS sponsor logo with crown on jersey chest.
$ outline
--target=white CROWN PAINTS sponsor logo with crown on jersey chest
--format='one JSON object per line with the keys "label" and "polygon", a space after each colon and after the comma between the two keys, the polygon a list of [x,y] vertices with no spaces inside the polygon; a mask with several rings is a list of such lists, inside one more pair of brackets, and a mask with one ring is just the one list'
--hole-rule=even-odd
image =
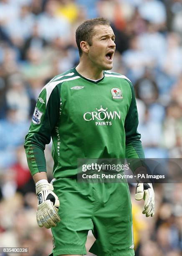
{"label": "white CROWN PAINTS sponsor logo with crown on jersey chest", "polygon": [[97,110],[97,112],[92,111],[92,112],[84,113],[83,119],[86,121],[95,120],[96,126],[97,125],[112,125],[111,120],[116,120],[116,119],[121,120],[120,112],[118,113],[117,111],[107,111],[107,108],[104,109],[104,108],[102,108],[102,106],[100,109],[96,108],[96,110]]}

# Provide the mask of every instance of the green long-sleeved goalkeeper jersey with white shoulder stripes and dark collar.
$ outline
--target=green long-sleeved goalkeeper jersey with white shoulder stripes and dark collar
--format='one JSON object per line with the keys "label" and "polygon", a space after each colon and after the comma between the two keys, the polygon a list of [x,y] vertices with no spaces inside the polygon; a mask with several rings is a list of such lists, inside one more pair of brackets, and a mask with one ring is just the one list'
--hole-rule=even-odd
{"label": "green long-sleeved goalkeeper jersey with white shoulder stripes and dark collar", "polygon": [[143,158],[133,86],[104,71],[93,81],[75,68],[54,77],[40,92],[25,151],[32,175],[46,172],[45,145],[52,138],[53,176],[73,177],[79,158]]}

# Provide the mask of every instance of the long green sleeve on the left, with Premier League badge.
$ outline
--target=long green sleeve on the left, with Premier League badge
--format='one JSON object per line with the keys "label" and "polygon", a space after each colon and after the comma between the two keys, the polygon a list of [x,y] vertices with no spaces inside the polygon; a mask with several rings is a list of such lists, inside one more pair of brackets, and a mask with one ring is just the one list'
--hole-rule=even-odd
{"label": "long green sleeve on the left, with Premier League badge", "polygon": [[[50,90],[51,89],[51,90]],[[44,87],[38,97],[30,129],[25,136],[24,148],[32,175],[46,172],[44,150],[51,141],[51,133],[58,123],[60,113],[60,89]]]}

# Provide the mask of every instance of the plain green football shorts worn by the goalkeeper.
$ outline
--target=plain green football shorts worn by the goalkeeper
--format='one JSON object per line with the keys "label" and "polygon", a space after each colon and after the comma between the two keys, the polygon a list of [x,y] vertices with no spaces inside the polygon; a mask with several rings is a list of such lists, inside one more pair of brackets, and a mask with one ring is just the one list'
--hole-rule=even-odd
{"label": "plain green football shorts worn by the goalkeeper", "polygon": [[77,183],[60,178],[53,182],[60,200],[61,222],[53,233],[53,253],[87,254],[88,230],[96,241],[97,256],[134,256],[131,200],[127,183]]}

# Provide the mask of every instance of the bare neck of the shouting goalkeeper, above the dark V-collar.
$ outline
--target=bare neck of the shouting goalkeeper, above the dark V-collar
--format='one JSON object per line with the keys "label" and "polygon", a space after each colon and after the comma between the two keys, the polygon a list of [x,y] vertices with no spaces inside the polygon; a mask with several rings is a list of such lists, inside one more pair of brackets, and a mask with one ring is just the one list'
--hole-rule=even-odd
{"label": "bare neck of the shouting goalkeeper, above the dark V-collar", "polygon": [[94,67],[94,65],[91,62],[85,61],[83,57],[81,57],[80,63],[76,67],[76,71],[83,77],[93,80],[101,79],[104,75],[102,69]]}

